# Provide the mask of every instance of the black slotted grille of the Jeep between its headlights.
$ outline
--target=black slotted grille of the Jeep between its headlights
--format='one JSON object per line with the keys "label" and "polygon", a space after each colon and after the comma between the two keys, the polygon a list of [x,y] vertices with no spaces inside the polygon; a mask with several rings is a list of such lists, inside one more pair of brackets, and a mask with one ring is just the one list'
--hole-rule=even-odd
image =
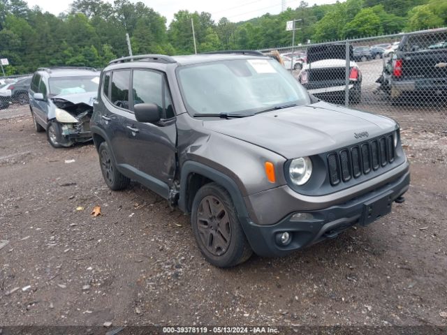
{"label": "black slotted grille of the Jeep between its headlights", "polygon": [[328,174],[330,184],[358,178],[379,168],[385,167],[395,159],[393,134],[374,138],[328,154]]}

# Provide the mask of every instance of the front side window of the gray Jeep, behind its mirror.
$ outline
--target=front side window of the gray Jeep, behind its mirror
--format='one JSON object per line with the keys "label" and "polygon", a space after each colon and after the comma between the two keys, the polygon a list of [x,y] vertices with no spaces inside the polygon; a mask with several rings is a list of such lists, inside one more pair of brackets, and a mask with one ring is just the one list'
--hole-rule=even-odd
{"label": "front side window of the gray Jeep, behind its mirror", "polygon": [[[149,70],[133,70],[133,105],[154,103],[162,119],[174,117],[173,103],[163,75]],[[164,97],[163,97],[164,95]]]}

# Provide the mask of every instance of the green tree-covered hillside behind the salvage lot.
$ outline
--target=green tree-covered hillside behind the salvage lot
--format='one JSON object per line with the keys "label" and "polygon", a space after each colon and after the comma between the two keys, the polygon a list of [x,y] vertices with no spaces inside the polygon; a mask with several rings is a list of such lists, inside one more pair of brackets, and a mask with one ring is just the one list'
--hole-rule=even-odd
{"label": "green tree-covered hillside behind the salvage lot", "polygon": [[71,12],[58,16],[29,8],[22,0],[0,0],[0,57],[8,74],[31,73],[39,66],[101,68],[126,56],[126,33],[134,54],[193,52],[191,17],[198,52],[262,49],[291,44],[286,21],[301,20],[296,42],[312,43],[393,34],[447,26],[445,0],[347,0],[332,5],[288,8],[246,22],[212,20],[210,13],[179,10],[166,17],[142,2],[75,0]]}

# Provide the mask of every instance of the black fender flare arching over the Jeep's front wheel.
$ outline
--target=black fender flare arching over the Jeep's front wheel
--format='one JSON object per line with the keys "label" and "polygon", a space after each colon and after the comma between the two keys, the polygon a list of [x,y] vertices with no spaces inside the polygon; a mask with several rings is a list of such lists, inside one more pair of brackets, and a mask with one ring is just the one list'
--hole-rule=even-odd
{"label": "black fender flare arching over the Jeep's front wheel", "polygon": [[[186,161],[182,165],[178,200],[178,207],[180,210],[184,211],[185,213],[188,212],[186,204],[186,192],[188,190],[187,183],[189,176],[193,173],[201,174],[203,177],[207,177],[208,179],[211,179],[217,184],[223,186],[223,188],[226,188],[226,191],[230,193],[231,200],[233,200],[238,218],[240,218],[242,222],[246,222],[247,220],[249,220],[249,214],[247,211],[247,207],[245,206],[244,198],[242,197],[242,193],[237,187],[235,181],[228,177],[226,174],[223,174],[222,172],[214,168],[210,168],[210,166],[208,165],[198,163],[196,161]],[[242,224],[242,227],[243,226],[244,225]]]}

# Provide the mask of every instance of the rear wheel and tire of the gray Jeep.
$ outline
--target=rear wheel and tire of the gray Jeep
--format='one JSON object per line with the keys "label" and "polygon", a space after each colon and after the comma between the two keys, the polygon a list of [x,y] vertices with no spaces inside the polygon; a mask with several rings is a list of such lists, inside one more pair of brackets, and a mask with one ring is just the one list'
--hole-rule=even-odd
{"label": "rear wheel and tire of the gray Jeep", "polygon": [[102,142],[98,149],[99,165],[105,184],[109,186],[112,191],[124,190],[129,186],[131,179],[127,178],[117,170],[112,153],[108,147],[107,142]]}

